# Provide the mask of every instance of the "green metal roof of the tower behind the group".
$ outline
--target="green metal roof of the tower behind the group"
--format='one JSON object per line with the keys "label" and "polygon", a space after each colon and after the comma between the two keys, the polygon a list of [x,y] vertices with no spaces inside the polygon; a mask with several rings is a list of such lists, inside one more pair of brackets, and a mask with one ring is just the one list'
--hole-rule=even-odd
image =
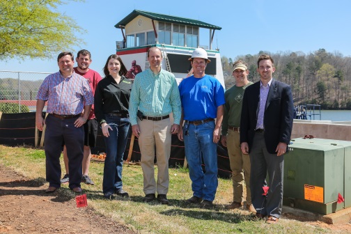
{"label": "green metal roof of the tower behind the group", "polygon": [[187,18],[182,18],[182,17],[177,17],[173,15],[163,15],[159,13],[150,13],[148,11],[143,11],[143,10],[133,10],[132,13],[127,15],[123,20],[120,20],[115,27],[120,28],[120,26],[125,26],[132,20],[134,20],[135,17],[138,15],[143,15],[145,17],[150,18],[151,20],[157,20],[159,22],[169,22],[173,24],[185,24],[185,25],[190,25],[190,26],[198,26],[200,28],[205,28],[205,29],[217,29],[221,30],[220,26],[215,26],[212,24],[208,24],[205,22],[202,22],[200,20],[192,20],[192,19],[187,19]]}

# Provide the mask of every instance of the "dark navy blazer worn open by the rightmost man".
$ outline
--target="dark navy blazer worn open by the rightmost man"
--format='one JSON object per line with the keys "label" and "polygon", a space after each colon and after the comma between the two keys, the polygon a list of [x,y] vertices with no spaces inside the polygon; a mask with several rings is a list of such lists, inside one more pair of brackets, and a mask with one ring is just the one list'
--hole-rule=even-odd
{"label": "dark navy blazer worn open by the rightmost man", "polygon": [[[260,103],[260,81],[247,87],[242,100],[240,122],[240,143],[247,142],[252,148],[253,136],[257,124]],[[265,126],[265,144],[268,153],[276,154],[279,142],[290,143],[294,104],[291,88],[288,84],[272,79],[265,104],[263,125]],[[286,149],[288,153],[288,147]]]}

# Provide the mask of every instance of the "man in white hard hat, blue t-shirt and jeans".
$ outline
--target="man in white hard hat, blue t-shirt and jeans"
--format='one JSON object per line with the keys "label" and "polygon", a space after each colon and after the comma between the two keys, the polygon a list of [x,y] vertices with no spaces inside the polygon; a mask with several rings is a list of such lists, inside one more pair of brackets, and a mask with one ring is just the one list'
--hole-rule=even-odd
{"label": "man in white hard hat, blue t-shirt and jeans", "polygon": [[[185,120],[185,124],[178,132],[178,138],[185,143],[194,192],[187,202],[201,203],[203,208],[210,208],[218,186],[217,143],[221,135],[224,88],[217,79],[205,75],[205,68],[210,63],[205,49],[195,49],[189,60],[194,75],[182,80],[179,85],[182,120]],[[217,120],[214,121],[214,118]],[[205,173],[202,162],[205,164]]]}

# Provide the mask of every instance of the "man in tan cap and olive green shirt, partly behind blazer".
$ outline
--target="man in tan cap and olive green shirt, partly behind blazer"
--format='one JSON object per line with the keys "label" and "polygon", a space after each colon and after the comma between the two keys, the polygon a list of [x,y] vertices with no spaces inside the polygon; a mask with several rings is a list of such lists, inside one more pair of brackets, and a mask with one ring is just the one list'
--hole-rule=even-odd
{"label": "man in tan cap and olive green shirt, partly behind blazer", "polygon": [[247,189],[247,209],[251,212],[256,212],[251,203],[250,157],[242,154],[239,134],[242,98],[244,97],[245,88],[253,84],[247,80],[248,75],[247,65],[241,60],[235,61],[233,64],[233,77],[235,77],[236,83],[224,94],[226,104],[224,105],[221,143],[228,148],[233,180],[233,203],[227,205],[226,208],[235,209],[242,207],[245,184]]}

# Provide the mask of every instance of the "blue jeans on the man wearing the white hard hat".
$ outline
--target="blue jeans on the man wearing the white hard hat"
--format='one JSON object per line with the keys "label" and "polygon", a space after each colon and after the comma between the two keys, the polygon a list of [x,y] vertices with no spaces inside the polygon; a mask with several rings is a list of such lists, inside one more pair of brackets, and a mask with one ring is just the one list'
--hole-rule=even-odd
{"label": "blue jeans on the man wearing the white hard hat", "polygon": [[[194,196],[213,201],[218,186],[217,143],[213,143],[214,121],[183,127],[185,157]],[[201,157],[202,156],[202,157]],[[202,169],[205,164],[205,173]]]}

